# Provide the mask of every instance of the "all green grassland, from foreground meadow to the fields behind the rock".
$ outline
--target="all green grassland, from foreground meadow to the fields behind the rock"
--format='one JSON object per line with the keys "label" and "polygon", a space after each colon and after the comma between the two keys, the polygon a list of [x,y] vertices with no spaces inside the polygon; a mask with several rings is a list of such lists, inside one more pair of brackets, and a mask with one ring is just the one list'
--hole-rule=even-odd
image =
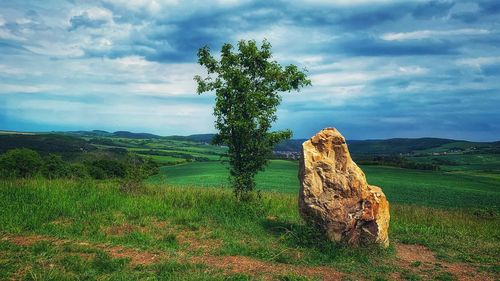
{"label": "all green grassland, from foreground meadow to the fields behind the rock", "polygon": [[500,278],[494,153],[411,156],[441,159],[439,171],[362,165],[391,204],[391,244],[380,249],[328,242],[304,223],[297,161],[271,160],[256,178],[259,197],[243,203],[228,186],[226,164],[217,161],[222,147],[123,134],[63,139],[30,136],[22,143],[42,154],[62,147],[74,162],[124,150],[163,166],[144,187],[128,191],[120,179],[0,180],[0,280]]}

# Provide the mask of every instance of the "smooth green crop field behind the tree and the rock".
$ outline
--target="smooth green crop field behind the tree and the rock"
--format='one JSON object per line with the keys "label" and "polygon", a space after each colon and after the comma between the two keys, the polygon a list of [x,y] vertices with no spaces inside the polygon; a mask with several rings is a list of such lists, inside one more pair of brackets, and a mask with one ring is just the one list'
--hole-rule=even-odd
{"label": "smooth green crop field behind the tree and the rock", "polygon": [[[381,186],[391,203],[441,208],[500,208],[500,181],[477,174],[450,174],[383,166],[365,166],[368,182]],[[298,163],[273,160],[257,175],[263,191],[296,193]],[[219,162],[192,162],[162,167],[151,182],[175,186],[227,187],[228,170]]]}

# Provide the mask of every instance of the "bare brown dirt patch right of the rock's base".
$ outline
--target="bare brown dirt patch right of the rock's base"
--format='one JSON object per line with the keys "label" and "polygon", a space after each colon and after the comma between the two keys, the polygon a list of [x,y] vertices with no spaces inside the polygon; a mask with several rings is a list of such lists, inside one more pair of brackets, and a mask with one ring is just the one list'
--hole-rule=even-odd
{"label": "bare brown dirt patch right of the rock's base", "polygon": [[[478,271],[466,263],[438,261],[434,253],[422,245],[397,244],[396,251],[398,266],[424,279],[431,279],[439,272],[448,272],[459,281],[496,280],[486,272]],[[401,275],[393,277],[403,279]]]}

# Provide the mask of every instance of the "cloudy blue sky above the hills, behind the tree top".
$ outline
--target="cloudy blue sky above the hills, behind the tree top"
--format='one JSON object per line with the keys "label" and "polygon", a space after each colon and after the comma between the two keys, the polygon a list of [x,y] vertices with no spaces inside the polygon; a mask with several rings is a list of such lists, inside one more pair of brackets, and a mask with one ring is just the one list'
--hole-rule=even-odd
{"label": "cloudy blue sky above the hills, behind the tree top", "polygon": [[498,0],[0,0],[0,129],[215,132],[196,52],[242,39],[307,70],[295,138],[500,140]]}

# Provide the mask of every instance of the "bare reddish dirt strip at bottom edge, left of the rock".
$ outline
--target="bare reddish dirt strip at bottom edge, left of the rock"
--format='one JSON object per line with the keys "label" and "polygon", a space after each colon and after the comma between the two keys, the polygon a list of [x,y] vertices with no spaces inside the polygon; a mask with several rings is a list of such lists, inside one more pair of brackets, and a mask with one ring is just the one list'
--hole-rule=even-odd
{"label": "bare reddish dirt strip at bottom edge, left of the rock", "polygon": [[192,261],[204,263],[228,273],[242,273],[252,276],[297,274],[321,278],[321,280],[340,280],[342,273],[329,267],[303,267],[290,264],[264,262],[244,256],[200,256]]}

